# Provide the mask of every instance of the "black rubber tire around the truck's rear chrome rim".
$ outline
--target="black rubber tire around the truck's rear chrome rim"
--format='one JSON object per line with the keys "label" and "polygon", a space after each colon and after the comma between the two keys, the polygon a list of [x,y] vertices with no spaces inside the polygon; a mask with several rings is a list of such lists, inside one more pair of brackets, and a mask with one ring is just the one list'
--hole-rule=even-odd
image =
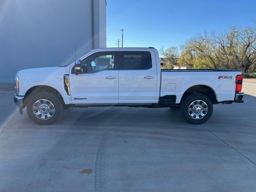
{"label": "black rubber tire around the truck's rear chrome rim", "polygon": [[[192,102],[194,102],[196,100],[201,100],[201,101],[205,102],[208,107],[207,113],[201,119],[192,118],[192,116],[190,116],[190,114],[188,112],[188,108],[189,108],[190,104],[192,104]],[[182,100],[182,104],[180,106],[181,115],[191,124],[202,124],[202,123],[208,121],[209,118],[212,116],[212,112],[213,112],[212,101],[207,96],[205,96],[203,94],[191,94],[191,95],[186,96],[186,98],[184,98]],[[192,114],[192,112],[190,112],[190,113]]]}

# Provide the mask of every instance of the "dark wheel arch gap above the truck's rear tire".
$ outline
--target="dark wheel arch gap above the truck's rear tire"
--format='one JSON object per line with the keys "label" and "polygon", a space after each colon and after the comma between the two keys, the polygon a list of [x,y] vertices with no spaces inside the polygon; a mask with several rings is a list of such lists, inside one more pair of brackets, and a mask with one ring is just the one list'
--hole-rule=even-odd
{"label": "dark wheel arch gap above the truck's rear tire", "polygon": [[186,96],[188,96],[190,94],[194,94],[194,93],[203,94],[203,95],[207,96],[212,101],[212,104],[216,104],[218,102],[217,101],[217,96],[216,96],[216,93],[214,92],[214,90],[211,87],[206,86],[206,85],[194,85],[194,86],[191,86],[190,88],[188,88],[183,93],[180,102],[182,102],[182,100]]}

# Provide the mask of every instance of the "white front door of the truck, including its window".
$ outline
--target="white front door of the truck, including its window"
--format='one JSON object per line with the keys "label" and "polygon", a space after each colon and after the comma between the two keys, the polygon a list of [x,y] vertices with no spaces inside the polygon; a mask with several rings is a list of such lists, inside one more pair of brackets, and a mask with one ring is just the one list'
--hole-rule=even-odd
{"label": "white front door of the truck, including its window", "polygon": [[81,60],[82,74],[70,72],[73,104],[118,104],[116,52],[96,52]]}

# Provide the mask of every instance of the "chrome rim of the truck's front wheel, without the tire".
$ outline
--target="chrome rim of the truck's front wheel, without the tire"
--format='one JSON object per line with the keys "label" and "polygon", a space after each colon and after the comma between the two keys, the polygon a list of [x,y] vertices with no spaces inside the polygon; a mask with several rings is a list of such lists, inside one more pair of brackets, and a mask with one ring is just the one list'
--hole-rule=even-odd
{"label": "chrome rim of the truck's front wheel, without the tire", "polygon": [[54,115],[55,108],[49,100],[40,99],[33,104],[33,112],[38,119],[48,120]]}

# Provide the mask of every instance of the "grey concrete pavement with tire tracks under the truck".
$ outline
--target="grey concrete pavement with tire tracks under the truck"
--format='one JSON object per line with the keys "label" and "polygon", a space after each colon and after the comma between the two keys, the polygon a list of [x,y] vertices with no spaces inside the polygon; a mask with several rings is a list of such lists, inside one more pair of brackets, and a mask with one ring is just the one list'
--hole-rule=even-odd
{"label": "grey concrete pavement with tire tracks under the truck", "polygon": [[99,107],[39,126],[2,90],[0,191],[255,191],[256,83],[243,91],[203,125],[169,108]]}

